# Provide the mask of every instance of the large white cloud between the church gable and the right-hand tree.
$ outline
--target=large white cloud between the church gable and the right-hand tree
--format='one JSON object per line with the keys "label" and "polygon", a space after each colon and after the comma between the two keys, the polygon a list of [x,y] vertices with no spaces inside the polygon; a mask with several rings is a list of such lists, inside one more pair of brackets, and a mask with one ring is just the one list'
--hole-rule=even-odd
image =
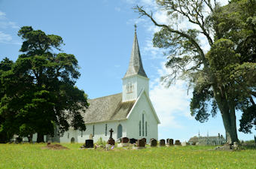
{"label": "large white cloud between the church gable and the right-hand tree", "polygon": [[182,128],[183,126],[176,119],[182,116],[187,119],[193,119],[190,116],[190,97],[187,95],[186,83],[177,80],[176,83],[169,88],[160,82],[160,78],[165,74],[169,74],[170,70],[166,69],[164,64],[158,69],[158,78],[153,80],[151,85],[150,97],[152,104],[160,118],[160,127]]}

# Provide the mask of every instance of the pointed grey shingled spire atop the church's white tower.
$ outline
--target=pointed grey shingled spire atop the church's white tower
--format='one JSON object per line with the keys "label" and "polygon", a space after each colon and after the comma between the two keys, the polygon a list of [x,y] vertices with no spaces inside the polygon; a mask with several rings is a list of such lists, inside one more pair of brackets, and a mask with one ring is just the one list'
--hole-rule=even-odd
{"label": "pointed grey shingled spire atop the church's white tower", "polygon": [[134,33],[134,39],[133,39],[133,50],[130,57],[128,70],[126,71],[126,74],[124,75],[123,78],[130,77],[135,74],[139,74],[142,77],[147,77],[147,74],[145,73],[142,66],[141,53],[139,52],[139,44],[138,44],[137,33],[136,33],[137,26],[135,25],[134,27],[135,27],[135,33]]}

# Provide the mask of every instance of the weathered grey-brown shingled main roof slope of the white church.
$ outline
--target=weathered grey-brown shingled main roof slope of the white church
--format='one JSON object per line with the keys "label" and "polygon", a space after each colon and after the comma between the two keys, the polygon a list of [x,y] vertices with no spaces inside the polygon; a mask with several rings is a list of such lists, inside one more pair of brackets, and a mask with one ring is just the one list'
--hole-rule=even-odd
{"label": "weathered grey-brown shingled main roof slope of the white church", "polygon": [[122,93],[94,98],[84,116],[85,123],[106,122],[126,119],[136,101],[122,102]]}

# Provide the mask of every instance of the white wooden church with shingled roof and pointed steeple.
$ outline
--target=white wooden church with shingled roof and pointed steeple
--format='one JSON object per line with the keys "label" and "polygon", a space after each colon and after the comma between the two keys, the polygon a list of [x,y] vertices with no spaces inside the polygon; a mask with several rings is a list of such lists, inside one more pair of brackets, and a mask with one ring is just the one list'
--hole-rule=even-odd
{"label": "white wooden church with shingled roof and pointed steeple", "polygon": [[55,137],[54,140],[60,143],[84,143],[93,136],[94,142],[100,137],[107,141],[111,128],[114,140],[120,137],[145,137],[147,141],[158,139],[160,120],[148,95],[149,79],[142,66],[136,32],[129,67],[122,80],[122,92],[88,101],[90,107],[86,113],[82,113],[86,131],[70,128],[62,137]]}

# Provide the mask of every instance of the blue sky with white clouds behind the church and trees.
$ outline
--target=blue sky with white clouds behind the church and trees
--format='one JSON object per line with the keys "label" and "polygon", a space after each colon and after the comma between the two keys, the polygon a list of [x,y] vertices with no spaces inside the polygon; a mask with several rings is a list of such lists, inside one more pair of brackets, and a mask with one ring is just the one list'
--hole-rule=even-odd
{"label": "blue sky with white clouds behind the church and trees", "polygon": [[[121,78],[128,68],[136,23],[139,47],[146,74],[150,78],[150,98],[160,118],[159,138],[181,141],[197,135],[224,134],[221,115],[209,122],[197,122],[190,116],[191,91],[186,83],[178,80],[169,89],[159,78],[168,73],[164,68],[166,56],[163,50],[152,47],[152,37],[157,29],[145,17],[133,11],[135,5],[154,12],[160,23],[171,21],[163,11],[157,10],[153,0],[0,0],[0,60],[8,57],[16,60],[22,40],[17,36],[21,26],[32,26],[47,34],[63,38],[65,53],[72,53],[81,67],[77,86],[84,89],[89,98],[97,98],[121,92]],[[186,28],[187,23],[181,23]],[[209,49],[204,43],[205,50]],[[237,126],[241,114],[237,113]],[[238,132],[239,139],[252,140],[253,134]]]}

